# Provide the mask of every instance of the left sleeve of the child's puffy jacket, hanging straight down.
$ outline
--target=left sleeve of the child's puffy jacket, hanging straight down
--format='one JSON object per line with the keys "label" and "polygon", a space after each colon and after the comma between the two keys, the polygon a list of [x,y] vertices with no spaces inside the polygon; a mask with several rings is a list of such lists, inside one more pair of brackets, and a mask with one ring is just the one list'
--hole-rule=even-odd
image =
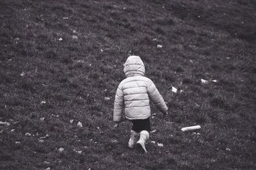
{"label": "left sleeve of the child's puffy jacket, hanging straight down", "polygon": [[114,112],[113,112],[113,121],[119,123],[122,121],[122,110],[124,105],[124,93],[119,84],[116,89],[115,103],[114,103]]}

